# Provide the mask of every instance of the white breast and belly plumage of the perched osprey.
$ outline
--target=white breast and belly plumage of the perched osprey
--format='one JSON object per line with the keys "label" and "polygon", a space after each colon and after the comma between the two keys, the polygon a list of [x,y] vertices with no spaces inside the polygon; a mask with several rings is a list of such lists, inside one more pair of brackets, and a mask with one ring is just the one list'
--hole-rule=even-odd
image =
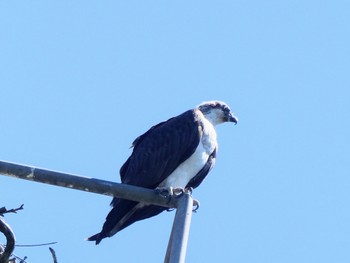
{"label": "white breast and belly plumage of the perched osprey", "polygon": [[209,155],[217,148],[217,141],[213,125],[205,118],[203,122],[203,135],[196,151],[180,164],[159,187],[185,188],[188,182],[207,163]]}

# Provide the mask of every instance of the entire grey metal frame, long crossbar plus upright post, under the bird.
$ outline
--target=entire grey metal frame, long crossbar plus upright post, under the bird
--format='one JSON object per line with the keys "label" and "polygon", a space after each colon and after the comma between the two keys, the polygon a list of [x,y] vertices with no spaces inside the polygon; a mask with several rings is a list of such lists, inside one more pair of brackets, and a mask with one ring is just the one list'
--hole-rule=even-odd
{"label": "entire grey metal frame, long crossbar plus upright post, under the bird", "polygon": [[196,203],[189,193],[164,197],[155,190],[143,187],[114,183],[6,161],[0,161],[0,174],[147,204],[176,208],[164,262],[185,262],[192,209],[193,204]]}

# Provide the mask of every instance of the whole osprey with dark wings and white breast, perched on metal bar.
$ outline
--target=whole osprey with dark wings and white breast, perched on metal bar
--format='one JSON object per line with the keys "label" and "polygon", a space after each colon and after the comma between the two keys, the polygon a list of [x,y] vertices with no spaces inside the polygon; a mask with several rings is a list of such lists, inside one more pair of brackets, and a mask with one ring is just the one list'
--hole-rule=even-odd
{"label": "whole osprey with dark wings and white breast, perched on metal bar", "polygon": [[[150,128],[132,143],[131,156],[120,169],[123,184],[150,189],[196,188],[215,164],[218,144],[215,126],[237,123],[226,103],[209,101]],[[88,238],[99,244],[132,223],[166,210],[113,198],[100,233]]]}

